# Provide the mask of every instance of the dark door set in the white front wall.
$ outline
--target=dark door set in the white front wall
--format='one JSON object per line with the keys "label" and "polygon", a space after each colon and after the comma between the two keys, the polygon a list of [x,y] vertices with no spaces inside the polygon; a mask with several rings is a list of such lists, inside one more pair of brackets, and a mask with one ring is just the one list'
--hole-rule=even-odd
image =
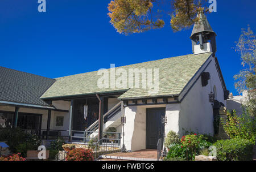
{"label": "dark door set in the white front wall", "polygon": [[150,108],[146,110],[146,148],[157,149],[159,139],[163,139],[164,125],[162,117],[166,108]]}

